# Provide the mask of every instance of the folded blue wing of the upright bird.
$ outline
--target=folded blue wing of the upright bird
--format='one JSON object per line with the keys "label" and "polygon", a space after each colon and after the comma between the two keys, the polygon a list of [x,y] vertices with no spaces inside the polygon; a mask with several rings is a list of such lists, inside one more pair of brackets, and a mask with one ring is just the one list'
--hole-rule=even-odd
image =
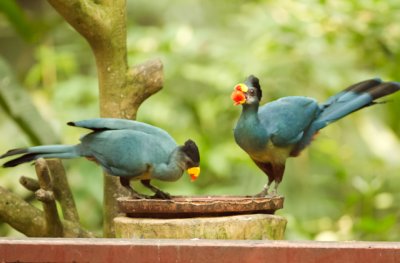
{"label": "folded blue wing of the upright bird", "polygon": [[272,143],[284,147],[301,140],[304,131],[319,113],[316,100],[292,96],[265,104],[258,115]]}

